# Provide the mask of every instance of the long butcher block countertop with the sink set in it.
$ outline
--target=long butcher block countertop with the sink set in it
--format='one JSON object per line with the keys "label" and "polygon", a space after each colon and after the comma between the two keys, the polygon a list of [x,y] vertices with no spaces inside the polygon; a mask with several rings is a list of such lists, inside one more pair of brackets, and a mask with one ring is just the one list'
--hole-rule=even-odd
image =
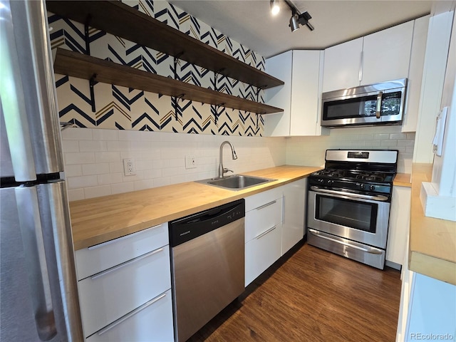
{"label": "long butcher block countertop with the sink set in it", "polygon": [[186,182],[70,202],[74,248],[83,249],[307,177],[321,167],[284,165],[242,172],[276,179],[244,190]]}

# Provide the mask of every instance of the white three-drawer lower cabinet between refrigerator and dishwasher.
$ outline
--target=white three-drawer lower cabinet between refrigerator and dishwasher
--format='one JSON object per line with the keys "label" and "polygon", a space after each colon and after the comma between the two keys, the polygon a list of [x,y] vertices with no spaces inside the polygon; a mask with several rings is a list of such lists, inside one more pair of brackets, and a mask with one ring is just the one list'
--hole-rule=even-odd
{"label": "white three-drawer lower cabinet between refrigerator and dishwasher", "polygon": [[167,223],[76,251],[86,341],[173,341]]}

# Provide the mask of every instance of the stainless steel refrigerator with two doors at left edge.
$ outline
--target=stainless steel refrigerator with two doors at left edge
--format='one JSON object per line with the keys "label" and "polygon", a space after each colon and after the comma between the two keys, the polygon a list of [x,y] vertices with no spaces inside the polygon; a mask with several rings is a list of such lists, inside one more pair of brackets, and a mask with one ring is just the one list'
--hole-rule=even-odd
{"label": "stainless steel refrigerator with two doors at left edge", "polygon": [[0,0],[0,339],[83,341],[46,4]]}

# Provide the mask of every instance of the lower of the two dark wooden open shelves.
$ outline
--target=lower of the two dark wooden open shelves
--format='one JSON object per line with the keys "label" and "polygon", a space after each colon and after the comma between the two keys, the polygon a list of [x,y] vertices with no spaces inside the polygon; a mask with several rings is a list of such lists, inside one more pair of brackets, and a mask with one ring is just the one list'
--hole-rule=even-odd
{"label": "lower of the two dark wooden open shelves", "polygon": [[150,91],[162,95],[176,96],[185,100],[195,100],[211,105],[246,110],[257,114],[271,114],[283,111],[264,103],[257,103],[233,95],[219,93],[207,88],[194,86],[172,78],[123,66],[111,61],[57,48],[54,71],[63,75],[110,83],[128,88]]}

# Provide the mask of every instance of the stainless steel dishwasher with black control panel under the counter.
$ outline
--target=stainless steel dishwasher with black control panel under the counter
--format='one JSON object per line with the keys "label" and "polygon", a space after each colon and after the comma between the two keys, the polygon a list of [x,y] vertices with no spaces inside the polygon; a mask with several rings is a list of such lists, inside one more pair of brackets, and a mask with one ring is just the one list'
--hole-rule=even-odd
{"label": "stainless steel dishwasher with black control panel under the counter", "polygon": [[170,222],[175,338],[186,341],[244,291],[245,202]]}

